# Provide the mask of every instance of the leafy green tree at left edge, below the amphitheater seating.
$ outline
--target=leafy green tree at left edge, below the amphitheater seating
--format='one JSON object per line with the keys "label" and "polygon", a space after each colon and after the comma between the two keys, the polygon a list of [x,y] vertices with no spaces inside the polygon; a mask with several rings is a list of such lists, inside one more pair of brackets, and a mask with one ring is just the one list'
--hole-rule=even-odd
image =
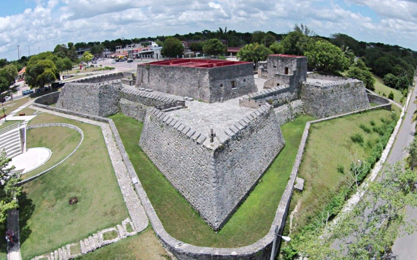
{"label": "leafy green tree at left edge, below the amphitheater seating", "polygon": [[0,227],[4,228],[7,211],[18,208],[19,205],[14,199],[19,196],[22,188],[16,186],[20,181],[17,173],[12,173],[14,166],[9,167],[8,163],[11,161],[7,158],[5,152],[0,152]]}

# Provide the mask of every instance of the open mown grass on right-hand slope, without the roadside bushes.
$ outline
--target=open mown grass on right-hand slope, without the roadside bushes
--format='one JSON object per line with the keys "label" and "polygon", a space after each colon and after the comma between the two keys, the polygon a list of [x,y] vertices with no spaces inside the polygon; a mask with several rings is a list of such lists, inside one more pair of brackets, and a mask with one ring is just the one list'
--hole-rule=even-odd
{"label": "open mown grass on right-hand slope, without the roadside bushes", "polygon": [[[354,179],[348,173],[350,164],[366,160],[380,138],[372,130],[371,121],[380,127],[386,124],[381,119],[391,120],[391,114],[391,111],[375,110],[311,125],[298,174],[305,180],[304,190],[294,193],[291,199],[291,207],[300,203],[292,221],[296,228],[321,214],[340,187],[353,184]],[[363,143],[352,141],[354,135],[361,136]]]}

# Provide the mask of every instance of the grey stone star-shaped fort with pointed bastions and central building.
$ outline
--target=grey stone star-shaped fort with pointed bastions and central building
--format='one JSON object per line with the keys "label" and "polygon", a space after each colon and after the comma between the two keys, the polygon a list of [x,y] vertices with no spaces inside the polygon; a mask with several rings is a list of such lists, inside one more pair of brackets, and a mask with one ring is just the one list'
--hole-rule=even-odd
{"label": "grey stone star-shaped fort with pointed bastions and central building", "polygon": [[129,73],[67,83],[57,107],[144,123],[139,144],[167,180],[220,229],[285,145],[280,126],[369,107],[361,81],[307,76],[307,58],[270,55],[253,64],[176,59]]}

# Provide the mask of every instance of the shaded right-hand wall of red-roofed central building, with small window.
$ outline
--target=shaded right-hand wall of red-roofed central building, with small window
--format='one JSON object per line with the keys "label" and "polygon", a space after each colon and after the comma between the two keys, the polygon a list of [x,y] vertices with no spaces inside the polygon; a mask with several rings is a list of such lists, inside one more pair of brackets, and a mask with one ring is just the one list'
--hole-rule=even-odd
{"label": "shaded right-hand wall of red-roofed central building, with small window", "polygon": [[[235,82],[233,89],[232,81]],[[258,91],[252,64],[209,68],[209,82],[211,93],[209,103],[220,101],[220,98],[227,100]]]}

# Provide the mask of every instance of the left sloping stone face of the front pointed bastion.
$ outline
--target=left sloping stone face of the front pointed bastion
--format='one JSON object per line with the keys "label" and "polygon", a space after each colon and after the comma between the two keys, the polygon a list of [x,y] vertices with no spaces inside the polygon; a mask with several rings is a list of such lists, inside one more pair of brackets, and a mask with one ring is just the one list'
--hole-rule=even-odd
{"label": "left sloping stone face of the front pointed bastion", "polygon": [[213,152],[205,137],[165,113],[147,111],[139,145],[168,181],[215,227]]}

